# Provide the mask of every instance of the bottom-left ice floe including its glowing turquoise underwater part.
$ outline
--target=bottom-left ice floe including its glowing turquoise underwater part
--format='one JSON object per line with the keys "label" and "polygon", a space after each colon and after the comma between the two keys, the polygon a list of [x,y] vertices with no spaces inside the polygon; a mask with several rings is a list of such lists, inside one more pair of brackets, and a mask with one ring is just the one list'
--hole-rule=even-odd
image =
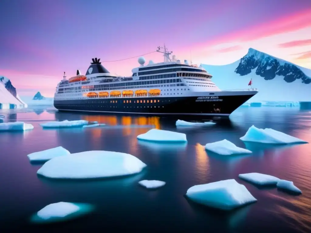
{"label": "bottom-left ice floe including its glowing turquoise underwater part", "polygon": [[84,215],[91,212],[92,209],[92,205],[85,203],[52,203],[32,216],[32,221],[37,223],[64,221]]}

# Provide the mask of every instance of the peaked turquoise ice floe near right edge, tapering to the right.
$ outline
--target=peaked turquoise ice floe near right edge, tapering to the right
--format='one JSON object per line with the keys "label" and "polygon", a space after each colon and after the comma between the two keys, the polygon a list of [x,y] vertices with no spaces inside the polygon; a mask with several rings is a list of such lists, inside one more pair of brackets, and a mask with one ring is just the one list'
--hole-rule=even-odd
{"label": "peaked turquoise ice floe near right edge, tapering to the right", "polygon": [[276,131],[273,129],[258,129],[255,126],[251,126],[247,130],[246,134],[240,139],[246,142],[259,142],[269,144],[308,143],[280,131]]}

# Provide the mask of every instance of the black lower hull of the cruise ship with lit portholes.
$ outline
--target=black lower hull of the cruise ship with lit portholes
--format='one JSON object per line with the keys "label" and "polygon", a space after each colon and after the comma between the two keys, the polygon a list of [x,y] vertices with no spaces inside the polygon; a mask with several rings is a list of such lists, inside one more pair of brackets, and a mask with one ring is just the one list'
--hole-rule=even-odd
{"label": "black lower hull of the cruise ship with lit portholes", "polygon": [[229,116],[256,93],[225,96],[54,100],[59,111],[152,115]]}

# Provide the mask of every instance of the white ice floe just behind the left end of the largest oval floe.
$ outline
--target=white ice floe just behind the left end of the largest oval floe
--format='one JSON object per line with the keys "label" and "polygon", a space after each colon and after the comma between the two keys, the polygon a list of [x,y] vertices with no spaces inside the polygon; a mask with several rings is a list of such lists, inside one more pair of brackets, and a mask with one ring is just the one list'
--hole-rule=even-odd
{"label": "white ice floe just behind the left end of the largest oval floe", "polygon": [[70,154],[70,152],[68,150],[66,150],[62,146],[58,146],[55,148],[31,153],[31,154],[27,155],[27,157],[32,162],[44,162],[44,161],[48,161],[52,158],[67,155],[67,154]]}

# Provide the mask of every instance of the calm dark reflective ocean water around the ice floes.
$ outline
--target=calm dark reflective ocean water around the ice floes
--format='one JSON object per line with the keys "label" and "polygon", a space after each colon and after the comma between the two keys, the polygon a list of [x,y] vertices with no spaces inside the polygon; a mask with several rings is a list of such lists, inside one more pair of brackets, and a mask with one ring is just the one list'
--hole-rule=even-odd
{"label": "calm dark reflective ocean water around the ice floes", "polygon": [[[311,232],[311,144],[288,147],[245,145],[239,138],[248,128],[273,128],[311,143],[311,112],[299,108],[241,107],[230,122],[199,128],[176,128],[176,119],[61,113],[52,108],[0,112],[5,121],[34,125],[26,132],[0,133],[0,232]],[[109,126],[86,129],[43,130],[40,123],[89,120]],[[153,125],[153,126],[151,126]],[[152,127],[187,134],[183,147],[137,141]],[[227,139],[252,155],[223,157],[208,154],[202,145]],[[30,164],[27,154],[63,146],[71,153],[108,150],[130,153],[148,166],[142,173],[117,180],[57,181],[36,175],[41,165]],[[238,178],[260,172],[294,181],[303,194],[292,196],[276,189],[258,189]],[[139,180],[163,180],[151,191]],[[193,185],[236,179],[258,199],[230,213],[187,201]],[[70,222],[33,225],[30,216],[55,202],[94,204],[93,213]],[[3,229],[3,230],[2,230]]]}

